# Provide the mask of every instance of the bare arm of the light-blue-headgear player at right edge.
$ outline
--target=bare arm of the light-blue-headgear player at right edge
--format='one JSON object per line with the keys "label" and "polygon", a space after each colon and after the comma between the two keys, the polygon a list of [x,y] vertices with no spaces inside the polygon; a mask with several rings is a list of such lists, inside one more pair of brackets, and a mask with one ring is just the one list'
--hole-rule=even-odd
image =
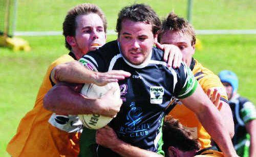
{"label": "bare arm of the light-blue-headgear player at right edge", "polygon": [[247,122],[245,127],[250,135],[250,157],[256,156],[256,119]]}

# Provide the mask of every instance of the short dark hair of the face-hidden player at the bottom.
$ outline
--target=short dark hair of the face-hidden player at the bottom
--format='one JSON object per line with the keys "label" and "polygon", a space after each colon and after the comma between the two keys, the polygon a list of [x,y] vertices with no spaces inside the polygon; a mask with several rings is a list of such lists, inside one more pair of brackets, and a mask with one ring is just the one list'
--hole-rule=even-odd
{"label": "short dark hair of the face-hidden player at the bottom", "polygon": [[182,151],[199,150],[200,143],[193,139],[191,132],[172,116],[165,116],[163,122],[163,150],[173,146]]}

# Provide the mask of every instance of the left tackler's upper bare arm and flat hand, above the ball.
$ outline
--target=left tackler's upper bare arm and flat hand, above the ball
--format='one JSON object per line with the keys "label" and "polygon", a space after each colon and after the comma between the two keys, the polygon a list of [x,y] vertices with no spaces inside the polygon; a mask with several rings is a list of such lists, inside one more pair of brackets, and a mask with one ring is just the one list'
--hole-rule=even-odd
{"label": "left tackler's upper bare arm and flat hand, above the ball", "polygon": [[110,72],[95,72],[89,70],[78,61],[72,61],[55,66],[51,72],[51,80],[69,83],[93,83],[103,86],[110,82],[117,82],[129,77],[131,74],[123,70],[112,70]]}

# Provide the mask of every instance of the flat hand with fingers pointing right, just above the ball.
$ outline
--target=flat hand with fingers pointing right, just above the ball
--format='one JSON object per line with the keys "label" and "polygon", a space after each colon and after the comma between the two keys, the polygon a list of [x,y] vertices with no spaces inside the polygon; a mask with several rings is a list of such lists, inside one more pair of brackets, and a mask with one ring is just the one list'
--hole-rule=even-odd
{"label": "flat hand with fingers pointing right, just above the ball", "polygon": [[118,80],[124,80],[125,77],[130,77],[131,73],[123,70],[112,70],[109,72],[97,72],[94,84],[98,86],[104,86],[111,82],[118,82]]}

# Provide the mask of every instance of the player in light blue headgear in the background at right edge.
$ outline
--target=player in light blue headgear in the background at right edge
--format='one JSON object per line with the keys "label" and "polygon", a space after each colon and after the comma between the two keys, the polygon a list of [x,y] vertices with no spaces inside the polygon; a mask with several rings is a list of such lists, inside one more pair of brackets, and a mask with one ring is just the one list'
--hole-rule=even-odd
{"label": "player in light blue headgear in the background at right edge", "polygon": [[228,70],[219,73],[225,86],[234,119],[234,148],[239,156],[256,156],[256,111],[248,99],[238,93],[238,77]]}

